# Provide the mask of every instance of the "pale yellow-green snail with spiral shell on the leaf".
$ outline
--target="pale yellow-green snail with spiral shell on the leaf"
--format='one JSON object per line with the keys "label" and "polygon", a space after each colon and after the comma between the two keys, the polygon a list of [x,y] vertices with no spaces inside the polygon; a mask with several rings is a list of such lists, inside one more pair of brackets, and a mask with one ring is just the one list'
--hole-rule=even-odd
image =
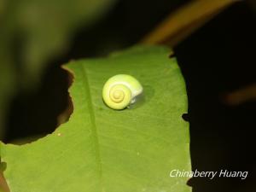
{"label": "pale yellow-green snail with spiral shell on the leaf", "polygon": [[114,75],[104,84],[103,101],[109,108],[124,109],[137,101],[143,93],[143,86],[137,79],[127,74]]}

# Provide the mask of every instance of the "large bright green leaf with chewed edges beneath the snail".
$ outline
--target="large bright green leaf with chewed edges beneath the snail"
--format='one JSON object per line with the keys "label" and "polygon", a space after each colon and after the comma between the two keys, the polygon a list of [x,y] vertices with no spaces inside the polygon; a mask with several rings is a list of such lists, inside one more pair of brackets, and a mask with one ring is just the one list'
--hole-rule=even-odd
{"label": "large bright green leaf with chewed edges beneath the snail", "polygon": [[[73,114],[37,142],[1,146],[11,192],[188,192],[187,96],[182,74],[165,47],[137,47],[106,59],[73,61]],[[136,77],[143,102],[116,111],[102,86],[118,73]]]}

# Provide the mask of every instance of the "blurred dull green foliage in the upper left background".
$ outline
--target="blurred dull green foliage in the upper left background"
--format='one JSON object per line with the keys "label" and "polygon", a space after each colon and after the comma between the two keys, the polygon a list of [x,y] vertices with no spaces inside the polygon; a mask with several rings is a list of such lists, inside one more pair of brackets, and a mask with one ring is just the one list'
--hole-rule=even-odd
{"label": "blurred dull green foliage in the upper left background", "polygon": [[0,137],[9,99],[15,91],[38,84],[47,61],[67,50],[73,32],[96,21],[114,2],[0,1]]}

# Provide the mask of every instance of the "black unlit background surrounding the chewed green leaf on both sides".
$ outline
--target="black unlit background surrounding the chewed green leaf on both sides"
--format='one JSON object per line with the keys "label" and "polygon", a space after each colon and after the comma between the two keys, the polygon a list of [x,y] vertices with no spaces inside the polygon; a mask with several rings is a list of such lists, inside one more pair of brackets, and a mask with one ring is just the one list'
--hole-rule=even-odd
{"label": "black unlit background surrounding the chewed green leaf on both sides", "polygon": [[[119,1],[105,18],[80,30],[67,54],[49,63],[38,90],[20,91],[15,96],[4,142],[43,137],[55,130],[56,118],[68,104],[67,73],[61,64],[136,44],[186,2]],[[189,96],[186,119],[190,122],[193,170],[249,172],[245,180],[193,178],[189,184],[195,192],[256,191],[256,102],[229,106],[222,100],[225,93],[256,82],[255,24],[253,9],[245,2],[236,3],[174,48]]]}

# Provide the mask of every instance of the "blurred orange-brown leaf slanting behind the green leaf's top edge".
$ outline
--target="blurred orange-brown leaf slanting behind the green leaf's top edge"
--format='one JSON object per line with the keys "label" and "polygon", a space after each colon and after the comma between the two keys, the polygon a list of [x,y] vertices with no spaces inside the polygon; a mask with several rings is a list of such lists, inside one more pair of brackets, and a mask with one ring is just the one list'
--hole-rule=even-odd
{"label": "blurred orange-brown leaf slanting behind the green leaf's top edge", "polygon": [[197,0],[187,3],[150,32],[143,39],[143,44],[168,44],[173,47],[235,2],[237,0]]}

